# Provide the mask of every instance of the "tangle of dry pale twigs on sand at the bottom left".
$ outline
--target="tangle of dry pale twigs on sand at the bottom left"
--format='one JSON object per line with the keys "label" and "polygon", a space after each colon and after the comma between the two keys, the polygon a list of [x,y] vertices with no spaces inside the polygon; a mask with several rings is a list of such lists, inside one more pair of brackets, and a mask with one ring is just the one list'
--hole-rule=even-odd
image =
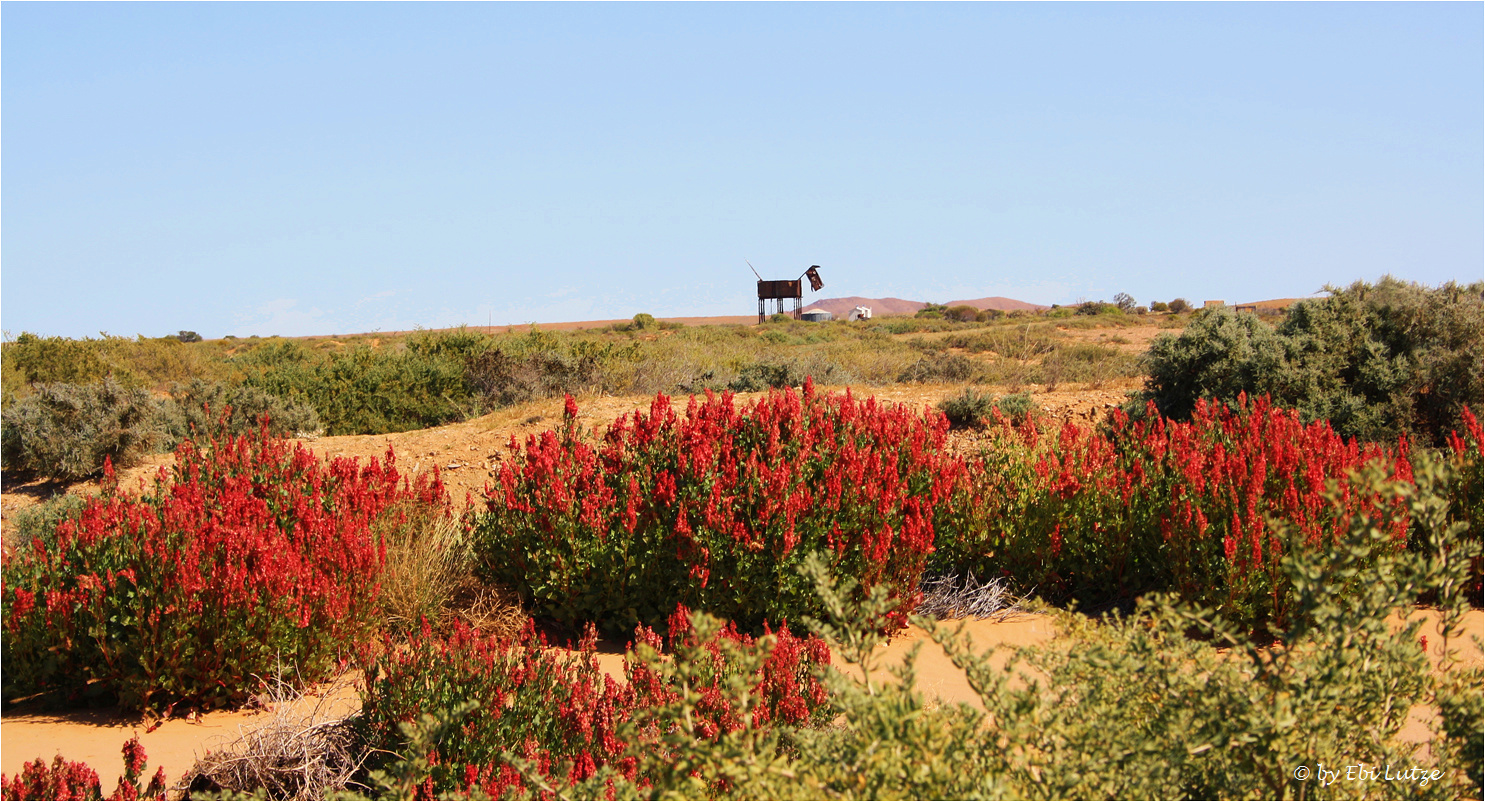
{"label": "tangle of dry pale twigs on sand at the bottom left", "polygon": [[355,738],[355,716],[337,714],[343,707],[337,691],[345,685],[333,685],[304,710],[304,697],[282,676],[275,677],[264,702],[272,717],[196,760],[189,780],[175,790],[187,796],[229,792],[266,799],[330,799],[347,789],[367,790],[352,777],[370,753]]}

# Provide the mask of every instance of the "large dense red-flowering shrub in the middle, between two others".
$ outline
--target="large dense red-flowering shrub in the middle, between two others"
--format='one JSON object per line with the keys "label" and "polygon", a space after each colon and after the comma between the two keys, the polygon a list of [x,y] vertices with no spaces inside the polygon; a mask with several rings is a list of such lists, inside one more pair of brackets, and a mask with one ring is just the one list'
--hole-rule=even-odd
{"label": "large dense red-flowering shrub in the middle, between two others", "polygon": [[936,527],[964,508],[941,414],[808,382],[741,410],[692,397],[685,416],[656,395],[601,444],[575,417],[569,398],[561,432],[512,437],[475,526],[484,575],[569,625],[624,631],[677,603],[745,628],[820,615],[797,569],[812,551],[912,609]]}

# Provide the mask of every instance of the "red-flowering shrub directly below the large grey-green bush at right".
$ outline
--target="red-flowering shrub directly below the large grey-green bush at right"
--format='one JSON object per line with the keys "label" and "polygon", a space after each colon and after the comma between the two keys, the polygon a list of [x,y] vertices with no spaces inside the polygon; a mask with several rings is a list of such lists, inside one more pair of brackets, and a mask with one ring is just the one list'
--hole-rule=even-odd
{"label": "red-flowering shrub directly below the large grey-green bush at right", "polygon": [[[1236,410],[1198,402],[1189,423],[1115,413],[1108,432],[1002,422],[973,471],[979,523],[962,541],[940,541],[941,558],[1004,572],[1051,599],[1175,590],[1255,625],[1282,624],[1285,547],[1268,520],[1292,521],[1304,547],[1320,550],[1375,506],[1403,548],[1405,502],[1354,493],[1345,477],[1380,463],[1411,481],[1409,449],[1345,440],[1246,397]],[[1322,496],[1328,483],[1341,484],[1341,509]]]}

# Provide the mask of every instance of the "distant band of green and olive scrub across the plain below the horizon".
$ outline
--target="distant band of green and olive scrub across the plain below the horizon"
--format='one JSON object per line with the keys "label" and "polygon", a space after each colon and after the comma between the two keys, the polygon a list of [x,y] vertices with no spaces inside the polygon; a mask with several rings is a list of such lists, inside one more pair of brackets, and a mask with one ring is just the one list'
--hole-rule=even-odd
{"label": "distant band of green and olive scrub across the plain below the horizon", "polygon": [[[1117,312],[1117,310],[1115,310]],[[1100,325],[1139,319],[1102,315]],[[820,383],[1056,386],[1139,374],[1138,359],[1068,339],[1035,315],[990,322],[888,318],[595,331],[420,331],[345,340],[22,334],[3,346],[6,471],[79,478],[168,451],[202,404],[276,431],[383,434],[438,426],[533,398],[751,392]],[[940,334],[949,334],[940,339]],[[245,428],[239,425],[239,431]]]}

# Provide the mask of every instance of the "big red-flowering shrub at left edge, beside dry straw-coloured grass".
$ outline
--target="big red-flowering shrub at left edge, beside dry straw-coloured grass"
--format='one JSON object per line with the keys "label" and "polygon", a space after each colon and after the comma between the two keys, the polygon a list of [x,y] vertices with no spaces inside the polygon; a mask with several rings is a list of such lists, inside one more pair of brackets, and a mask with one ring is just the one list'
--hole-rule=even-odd
{"label": "big red-flowering shrub at left edge, beside dry straw-coloured grass", "polygon": [[258,432],[187,441],[148,495],[105,481],[55,544],[22,545],[0,587],[4,695],[125,708],[242,701],[282,665],[313,682],[373,625],[398,501],[437,503],[385,462],[321,463]]}

